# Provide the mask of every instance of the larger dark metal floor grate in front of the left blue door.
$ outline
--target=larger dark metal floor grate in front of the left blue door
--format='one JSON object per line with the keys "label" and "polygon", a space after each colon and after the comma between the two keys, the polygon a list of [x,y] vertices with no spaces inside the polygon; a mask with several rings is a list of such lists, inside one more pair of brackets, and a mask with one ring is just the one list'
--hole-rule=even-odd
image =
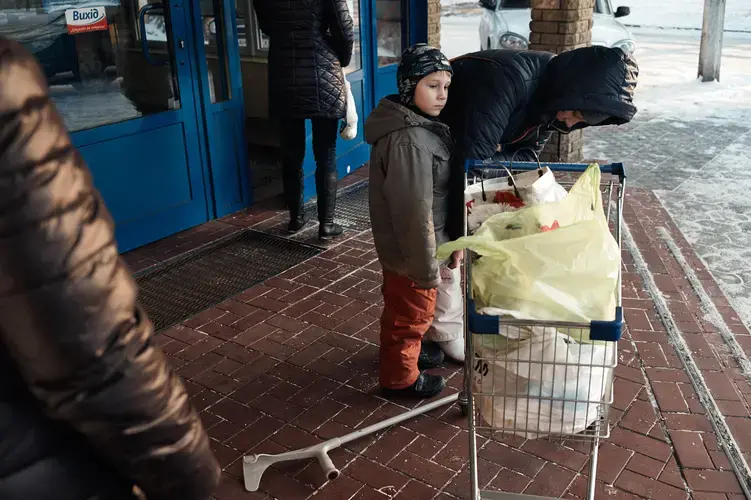
{"label": "larger dark metal floor grate in front of the left blue door", "polygon": [[163,330],[321,251],[246,229],[136,275],[139,300]]}

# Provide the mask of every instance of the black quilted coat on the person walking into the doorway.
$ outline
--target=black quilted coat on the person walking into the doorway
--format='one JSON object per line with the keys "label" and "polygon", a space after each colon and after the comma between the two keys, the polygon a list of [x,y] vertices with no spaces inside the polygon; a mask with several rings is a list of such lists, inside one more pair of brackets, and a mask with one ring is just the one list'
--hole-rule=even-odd
{"label": "black quilted coat on the person walking into the doorway", "polygon": [[346,0],[254,0],[271,40],[272,118],[343,118],[342,68],[349,65],[354,27]]}

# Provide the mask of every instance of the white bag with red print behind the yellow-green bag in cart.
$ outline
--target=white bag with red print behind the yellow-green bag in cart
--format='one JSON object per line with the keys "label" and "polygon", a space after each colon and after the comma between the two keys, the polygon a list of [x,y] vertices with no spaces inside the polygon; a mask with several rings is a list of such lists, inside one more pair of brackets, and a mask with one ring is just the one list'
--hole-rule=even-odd
{"label": "white bag with red print behind the yellow-green bag in cart", "polygon": [[467,187],[464,202],[467,204],[470,233],[493,215],[524,206],[561,201],[567,195],[548,167],[517,174],[514,176],[514,183],[521,198],[515,195],[508,177],[488,179]]}

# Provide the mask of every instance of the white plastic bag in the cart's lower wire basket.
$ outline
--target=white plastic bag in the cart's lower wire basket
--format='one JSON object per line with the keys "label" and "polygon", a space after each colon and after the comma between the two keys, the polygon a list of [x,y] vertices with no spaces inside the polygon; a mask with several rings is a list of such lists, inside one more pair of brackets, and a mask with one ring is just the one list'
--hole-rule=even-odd
{"label": "white plastic bag in the cart's lower wire basket", "polygon": [[609,403],[614,344],[579,344],[552,328],[523,341],[473,340],[473,393],[488,426],[527,439],[578,434]]}

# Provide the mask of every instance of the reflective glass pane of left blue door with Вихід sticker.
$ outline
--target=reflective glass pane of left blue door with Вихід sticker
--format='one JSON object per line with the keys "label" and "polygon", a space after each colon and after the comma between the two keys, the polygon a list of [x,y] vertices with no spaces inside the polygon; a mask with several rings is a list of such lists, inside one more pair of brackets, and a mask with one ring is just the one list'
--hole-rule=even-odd
{"label": "reflective glass pane of left blue door with \u0412\u0438\u0445\u0456\u0434 sticker", "polygon": [[[71,131],[179,108],[165,7],[157,4],[142,11],[147,6],[142,0],[102,0],[95,5],[94,10],[102,8],[96,30],[76,32],[66,11],[69,19],[80,18],[81,12],[92,11],[90,3],[0,0],[0,36],[18,41],[36,56]],[[141,26],[146,44],[141,43]]]}

